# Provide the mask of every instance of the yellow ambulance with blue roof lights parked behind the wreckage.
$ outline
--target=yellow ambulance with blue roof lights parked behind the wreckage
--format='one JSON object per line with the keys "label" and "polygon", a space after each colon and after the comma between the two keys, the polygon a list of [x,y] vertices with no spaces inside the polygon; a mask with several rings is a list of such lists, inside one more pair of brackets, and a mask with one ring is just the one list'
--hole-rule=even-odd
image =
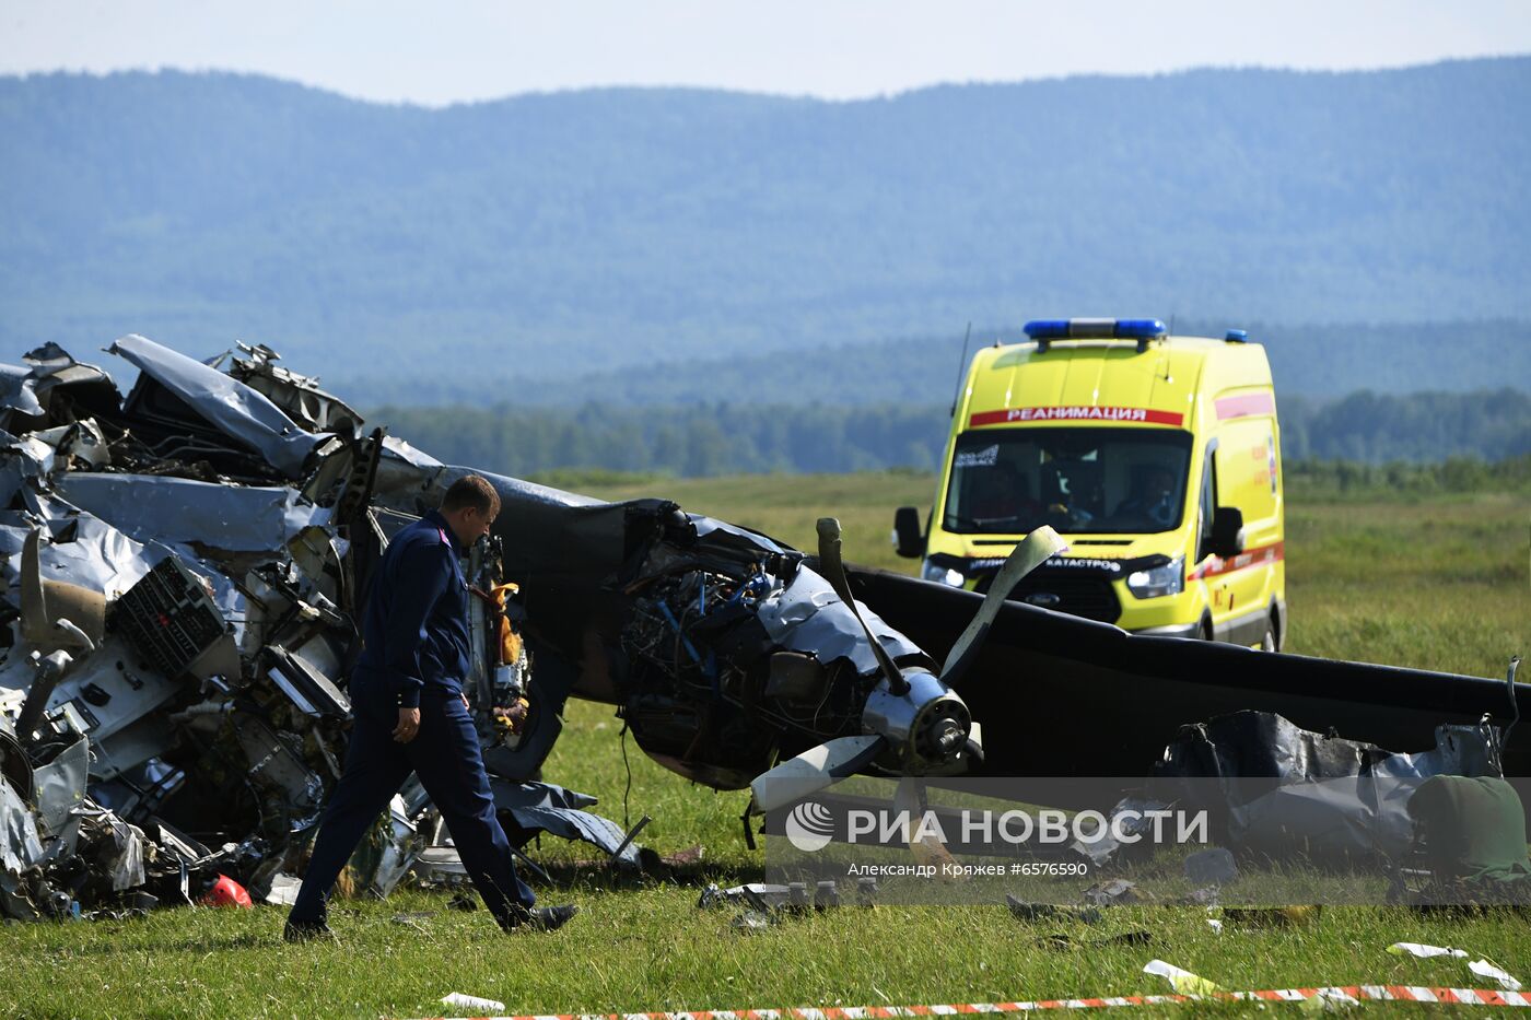
{"label": "yellow ambulance with blue roof lights parked behind the wreckage", "polygon": [[1029,531],[1069,550],[1012,599],[1139,634],[1286,640],[1281,433],[1265,349],[1156,319],[1026,325],[980,351],[952,409],[935,507],[900,507],[922,574],[986,590]]}

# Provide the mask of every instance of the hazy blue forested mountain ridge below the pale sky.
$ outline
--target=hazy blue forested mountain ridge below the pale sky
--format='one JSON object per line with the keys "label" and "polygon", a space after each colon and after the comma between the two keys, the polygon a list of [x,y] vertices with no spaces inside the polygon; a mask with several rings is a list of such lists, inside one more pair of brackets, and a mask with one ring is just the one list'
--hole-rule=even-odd
{"label": "hazy blue forested mountain ridge below the pale sky", "polygon": [[1528,109],[1525,57],[444,110],[0,78],[0,343],[246,338],[450,392],[1032,315],[1514,319]]}

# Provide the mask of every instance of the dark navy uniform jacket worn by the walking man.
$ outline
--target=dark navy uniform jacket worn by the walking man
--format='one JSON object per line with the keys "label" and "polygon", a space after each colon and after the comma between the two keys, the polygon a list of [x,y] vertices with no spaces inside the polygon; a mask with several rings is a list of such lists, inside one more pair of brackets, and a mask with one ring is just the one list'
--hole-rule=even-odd
{"label": "dark navy uniform jacket worn by the walking man", "polygon": [[372,577],[357,678],[380,683],[401,708],[424,688],[462,692],[468,672],[468,588],[462,553],[446,518],[432,510],[393,536]]}

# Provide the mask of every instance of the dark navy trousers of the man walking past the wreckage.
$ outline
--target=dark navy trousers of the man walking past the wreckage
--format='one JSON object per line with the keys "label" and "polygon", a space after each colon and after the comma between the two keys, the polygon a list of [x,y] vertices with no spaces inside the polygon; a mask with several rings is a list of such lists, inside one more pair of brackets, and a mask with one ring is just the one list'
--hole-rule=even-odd
{"label": "dark navy trousers of the man walking past the wreckage", "polygon": [[534,894],[516,876],[505,830],[495,818],[495,798],[478,731],[458,695],[427,688],[419,697],[419,732],[401,744],[395,695],[357,671],[351,685],[355,726],[346,752],[346,772],[335,784],[318,827],[314,855],[303,873],[303,888],[289,920],[325,920],[325,901],[367,827],[387,809],[410,772],[441,810],[473,885],[501,922],[514,905],[531,907]]}

